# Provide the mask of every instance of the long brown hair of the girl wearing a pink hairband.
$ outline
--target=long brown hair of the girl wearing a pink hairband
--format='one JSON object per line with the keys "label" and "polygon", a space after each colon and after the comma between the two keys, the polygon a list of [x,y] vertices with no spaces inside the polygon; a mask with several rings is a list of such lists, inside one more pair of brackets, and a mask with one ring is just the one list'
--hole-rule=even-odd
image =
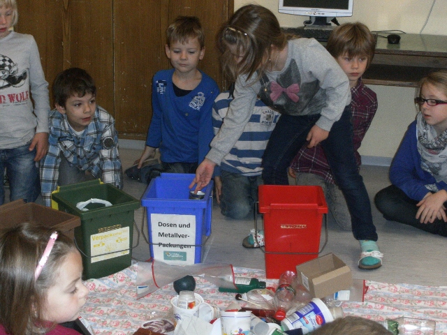
{"label": "long brown hair of the girl wearing a pink hairband", "polygon": [[[11,335],[45,334],[41,319],[47,290],[54,285],[66,256],[78,252],[59,233],[41,275],[34,272],[54,229],[21,223],[0,234],[0,324]],[[45,322],[47,325],[47,322]]]}

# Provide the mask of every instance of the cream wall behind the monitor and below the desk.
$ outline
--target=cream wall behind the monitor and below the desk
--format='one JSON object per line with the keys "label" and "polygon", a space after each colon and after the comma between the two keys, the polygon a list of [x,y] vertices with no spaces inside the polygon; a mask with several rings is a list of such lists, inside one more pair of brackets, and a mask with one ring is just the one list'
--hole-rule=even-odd
{"label": "cream wall behind the monitor and below the desk", "polygon": [[[251,1],[235,0],[235,10],[246,3]],[[308,18],[278,13],[278,0],[258,0],[256,3],[277,14],[282,27],[300,27]],[[353,16],[340,17],[338,21],[339,23],[360,21],[367,24],[372,31],[398,29],[406,33],[419,34],[432,3],[433,1],[429,0],[354,0]],[[446,15],[447,1],[435,1],[423,34],[447,35]],[[406,127],[416,116],[416,109],[412,103],[414,89],[378,85],[369,87],[377,94],[379,109],[359,151],[367,160],[372,158],[368,160],[370,163],[389,163]],[[367,163],[367,160],[364,159],[363,162]]]}

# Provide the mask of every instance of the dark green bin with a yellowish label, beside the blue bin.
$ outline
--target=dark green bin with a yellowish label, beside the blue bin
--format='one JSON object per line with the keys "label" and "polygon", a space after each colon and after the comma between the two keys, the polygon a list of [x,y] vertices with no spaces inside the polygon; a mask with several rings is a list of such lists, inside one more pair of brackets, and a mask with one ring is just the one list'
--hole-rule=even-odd
{"label": "dark green bin with a yellowish label, beside the blue bin", "polygon": [[100,179],[59,186],[52,208],[80,216],[75,242],[82,255],[82,277],[101,278],[131,265],[133,212],[140,201]]}

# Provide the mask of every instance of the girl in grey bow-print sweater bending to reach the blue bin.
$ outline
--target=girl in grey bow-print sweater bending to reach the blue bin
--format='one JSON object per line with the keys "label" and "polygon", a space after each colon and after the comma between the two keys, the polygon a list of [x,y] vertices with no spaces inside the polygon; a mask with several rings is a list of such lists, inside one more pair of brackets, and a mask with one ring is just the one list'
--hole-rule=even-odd
{"label": "girl in grey bow-print sweater bending to reach the blue bin", "polygon": [[305,141],[309,141],[308,147],[323,141],[335,181],[351,212],[354,237],[360,240],[359,267],[380,267],[383,255],[376,244],[371,204],[354,158],[351,92],[342,68],[316,40],[289,39],[274,14],[262,6],[238,9],[221,29],[218,42],[223,69],[236,80],[235,98],[196,171],[196,189],[210,181],[214,166],[240,137],[260,96],[266,105],[281,112],[263,156],[265,184],[288,184],[288,166]]}

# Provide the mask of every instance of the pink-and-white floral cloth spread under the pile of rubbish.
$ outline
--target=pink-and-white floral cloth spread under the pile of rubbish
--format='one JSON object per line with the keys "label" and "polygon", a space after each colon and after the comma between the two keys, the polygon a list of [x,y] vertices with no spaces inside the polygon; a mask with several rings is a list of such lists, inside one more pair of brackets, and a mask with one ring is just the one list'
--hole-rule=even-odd
{"label": "pink-and-white floral cloth spread under the pile of rubbish", "polygon": [[[138,264],[123,271],[85,282],[90,293],[81,315],[87,319],[95,334],[133,334],[143,322],[170,312],[170,299],[177,293],[173,284],[136,299],[135,279]],[[265,281],[265,272],[235,267],[236,276],[255,277]],[[267,280],[268,285],[276,285]],[[345,315],[357,315],[372,320],[397,318],[401,315],[425,318],[437,322],[437,335],[447,335],[447,287],[428,287],[367,281],[369,290],[365,302],[342,304]],[[234,293],[219,292],[217,287],[196,278],[196,293],[215,306],[225,308],[235,302]],[[242,302],[242,301],[238,301]],[[244,304],[241,304],[244,306]],[[191,334],[192,335],[192,334]]]}

